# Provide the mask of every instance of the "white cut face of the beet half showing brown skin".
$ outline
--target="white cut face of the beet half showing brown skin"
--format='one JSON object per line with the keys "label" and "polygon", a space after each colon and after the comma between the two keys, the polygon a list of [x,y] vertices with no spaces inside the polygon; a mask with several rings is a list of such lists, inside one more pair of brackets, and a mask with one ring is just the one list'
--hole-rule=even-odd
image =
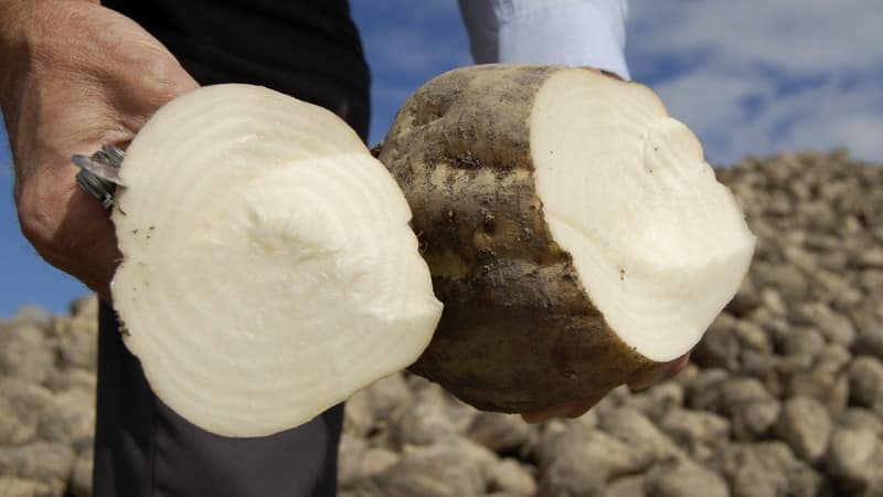
{"label": "white cut face of the beet half showing brown skin", "polygon": [[550,231],[610,328],[653,361],[689,351],[755,244],[695,136],[646,86],[562,71],[536,97],[531,148]]}

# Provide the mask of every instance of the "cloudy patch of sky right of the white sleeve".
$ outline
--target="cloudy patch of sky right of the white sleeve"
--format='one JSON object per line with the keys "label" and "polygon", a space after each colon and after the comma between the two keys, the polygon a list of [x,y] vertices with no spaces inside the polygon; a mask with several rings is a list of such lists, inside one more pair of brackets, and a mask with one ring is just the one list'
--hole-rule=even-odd
{"label": "cloudy patch of sky right of the white sleeve", "polygon": [[880,162],[880,25],[879,0],[632,0],[629,59],[715,162],[838,146]]}

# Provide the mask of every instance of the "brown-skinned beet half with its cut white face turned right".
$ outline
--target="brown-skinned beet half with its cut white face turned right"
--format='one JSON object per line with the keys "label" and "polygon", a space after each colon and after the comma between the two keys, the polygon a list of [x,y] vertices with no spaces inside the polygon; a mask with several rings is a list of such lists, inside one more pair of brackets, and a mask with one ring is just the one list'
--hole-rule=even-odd
{"label": "brown-skinned beet half with its cut white face turned right", "polygon": [[554,66],[444,74],[380,155],[445,311],[412,370],[536,411],[688,352],[755,239],[693,134],[648,87]]}

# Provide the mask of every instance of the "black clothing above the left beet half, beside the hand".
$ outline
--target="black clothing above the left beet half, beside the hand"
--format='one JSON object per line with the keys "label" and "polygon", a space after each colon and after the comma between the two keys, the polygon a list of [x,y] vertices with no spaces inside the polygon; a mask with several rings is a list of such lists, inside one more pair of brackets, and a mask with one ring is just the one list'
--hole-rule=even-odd
{"label": "black clothing above the left beet half, beside the hand", "polygon": [[202,85],[251,83],[326,107],[364,139],[370,73],[345,0],[105,0]]}

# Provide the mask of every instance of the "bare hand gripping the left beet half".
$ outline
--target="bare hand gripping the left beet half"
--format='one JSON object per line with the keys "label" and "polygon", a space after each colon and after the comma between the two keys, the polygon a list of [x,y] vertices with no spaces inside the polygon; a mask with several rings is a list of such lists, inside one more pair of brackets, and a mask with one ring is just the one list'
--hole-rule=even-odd
{"label": "bare hand gripping the left beet half", "polygon": [[22,233],[109,300],[114,226],[77,187],[71,156],[125,147],[160,106],[199,85],[137,23],[89,1],[6,0],[0,67]]}

